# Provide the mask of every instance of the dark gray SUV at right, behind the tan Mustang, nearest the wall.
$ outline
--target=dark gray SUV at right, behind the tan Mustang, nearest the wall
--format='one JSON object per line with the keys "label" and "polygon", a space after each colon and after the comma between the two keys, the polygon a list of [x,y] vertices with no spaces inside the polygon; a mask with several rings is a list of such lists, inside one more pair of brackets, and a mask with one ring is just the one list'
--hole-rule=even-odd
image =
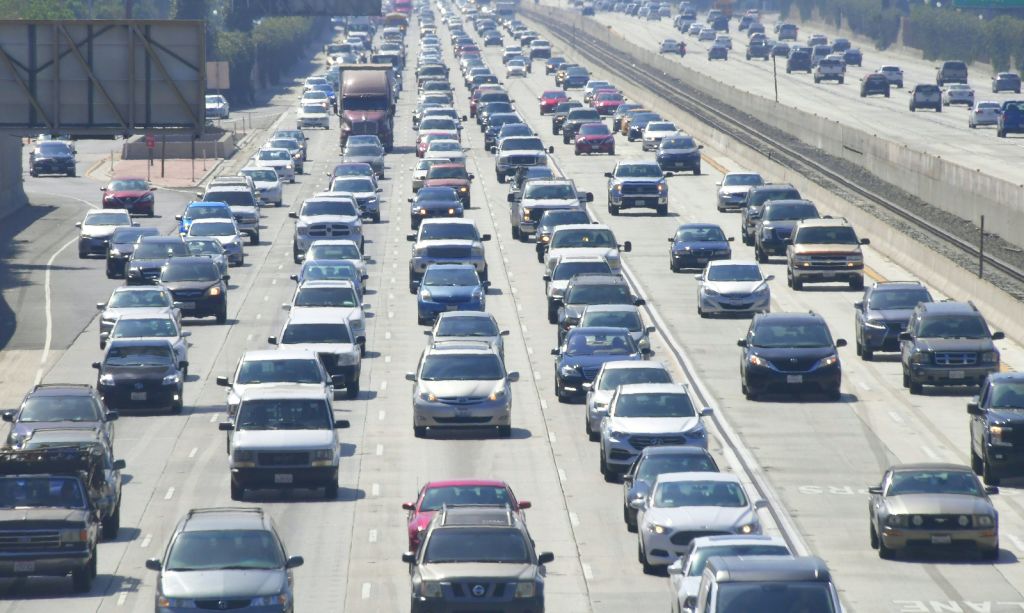
{"label": "dark gray SUV at right, behind the tan Mustang, nearest the wall", "polygon": [[903,387],[920,394],[927,385],[981,385],[999,371],[999,351],[992,333],[971,302],[919,304],[906,332],[900,334]]}

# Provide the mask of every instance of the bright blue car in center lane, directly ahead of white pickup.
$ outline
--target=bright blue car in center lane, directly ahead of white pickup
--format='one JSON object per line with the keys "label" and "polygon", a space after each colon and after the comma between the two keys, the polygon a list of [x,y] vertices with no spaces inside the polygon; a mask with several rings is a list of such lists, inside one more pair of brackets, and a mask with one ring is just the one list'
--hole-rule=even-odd
{"label": "bright blue car in center lane, directly ahead of white pickup", "polygon": [[434,322],[445,311],[482,311],[488,281],[481,281],[472,264],[431,264],[416,293],[417,321]]}

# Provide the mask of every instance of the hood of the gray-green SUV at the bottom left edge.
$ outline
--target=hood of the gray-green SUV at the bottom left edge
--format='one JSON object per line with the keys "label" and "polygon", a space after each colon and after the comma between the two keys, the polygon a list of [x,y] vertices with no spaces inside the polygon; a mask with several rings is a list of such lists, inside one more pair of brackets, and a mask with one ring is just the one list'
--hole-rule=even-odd
{"label": "hood of the gray-green SUV at the bottom left edge", "polygon": [[282,570],[165,570],[160,592],[168,598],[237,599],[281,594],[288,574]]}

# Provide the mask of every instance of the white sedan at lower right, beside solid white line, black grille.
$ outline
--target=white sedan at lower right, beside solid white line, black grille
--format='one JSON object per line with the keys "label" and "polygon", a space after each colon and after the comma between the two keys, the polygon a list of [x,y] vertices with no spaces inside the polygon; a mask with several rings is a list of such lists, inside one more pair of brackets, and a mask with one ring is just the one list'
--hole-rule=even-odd
{"label": "white sedan at lower right, beside solid white line, black grille", "polygon": [[666,473],[658,475],[651,494],[630,500],[637,510],[637,539],[645,573],[672,564],[694,536],[760,534],[758,510],[739,477],[729,473]]}

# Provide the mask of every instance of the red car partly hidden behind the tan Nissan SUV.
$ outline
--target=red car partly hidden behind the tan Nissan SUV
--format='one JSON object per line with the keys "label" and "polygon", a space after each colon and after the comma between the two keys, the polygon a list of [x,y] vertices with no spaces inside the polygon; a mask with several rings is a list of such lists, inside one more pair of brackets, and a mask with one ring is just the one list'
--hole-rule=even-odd
{"label": "red car partly hidden behind the tan Nissan SUV", "polygon": [[420,534],[427,529],[434,514],[441,507],[484,506],[505,507],[522,516],[522,511],[530,508],[526,500],[516,500],[512,488],[504,481],[480,479],[459,479],[455,481],[431,481],[423,486],[415,502],[402,502],[409,512],[409,551],[420,546]]}

